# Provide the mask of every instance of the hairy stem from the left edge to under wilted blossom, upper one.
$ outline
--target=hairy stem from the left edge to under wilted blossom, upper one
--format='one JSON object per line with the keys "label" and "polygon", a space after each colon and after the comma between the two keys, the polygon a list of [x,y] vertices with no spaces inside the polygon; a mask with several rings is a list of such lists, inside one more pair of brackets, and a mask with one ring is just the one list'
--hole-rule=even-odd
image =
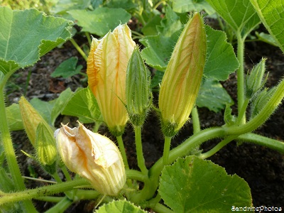
{"label": "hairy stem from the left edge to under wilted blossom, upper one", "polygon": [[34,197],[43,197],[45,195],[54,195],[56,193],[72,190],[74,187],[89,185],[84,179],[60,182],[55,185],[39,187],[33,190],[24,190],[21,192],[3,193],[0,197],[0,206],[8,202],[18,202],[21,200],[31,200]]}

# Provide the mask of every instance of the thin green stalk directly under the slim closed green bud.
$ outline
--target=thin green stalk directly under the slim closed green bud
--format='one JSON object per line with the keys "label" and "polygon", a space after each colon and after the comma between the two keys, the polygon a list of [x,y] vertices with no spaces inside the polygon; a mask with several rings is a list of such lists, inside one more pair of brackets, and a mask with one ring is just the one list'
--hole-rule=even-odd
{"label": "thin green stalk directly under the slim closed green bud", "polygon": [[145,159],[143,156],[143,148],[142,148],[142,141],[141,141],[141,126],[134,126],[134,132],[135,132],[135,143],[136,143],[136,155],[137,155],[138,168],[140,168],[143,174],[147,174],[148,170],[145,165]]}

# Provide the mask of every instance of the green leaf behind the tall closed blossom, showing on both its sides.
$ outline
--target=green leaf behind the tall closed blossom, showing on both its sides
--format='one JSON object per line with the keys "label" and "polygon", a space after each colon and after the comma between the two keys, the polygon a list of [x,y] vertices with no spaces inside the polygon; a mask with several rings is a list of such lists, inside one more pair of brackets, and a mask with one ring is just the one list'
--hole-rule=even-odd
{"label": "green leaf behind the tall closed blossom, showing on both its sides", "polygon": [[[141,51],[146,63],[157,70],[163,71],[168,65],[173,47],[180,32],[171,37],[162,34],[149,35],[139,40],[146,46]],[[239,61],[234,54],[230,43],[226,42],[226,34],[206,26],[207,33],[207,60],[204,67],[204,76],[214,77],[216,80],[226,80],[229,74],[239,67]]]}

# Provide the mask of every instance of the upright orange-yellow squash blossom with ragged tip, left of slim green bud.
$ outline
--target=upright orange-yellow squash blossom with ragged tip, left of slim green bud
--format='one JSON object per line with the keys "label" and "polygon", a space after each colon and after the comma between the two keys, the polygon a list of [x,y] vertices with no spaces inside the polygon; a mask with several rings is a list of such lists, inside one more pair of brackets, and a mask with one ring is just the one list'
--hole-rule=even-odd
{"label": "upright orange-yellow squash blossom with ragged tip, left of slim green bud", "polygon": [[121,136],[128,119],[126,68],[134,46],[129,27],[119,25],[101,40],[93,38],[87,60],[89,88],[114,136]]}

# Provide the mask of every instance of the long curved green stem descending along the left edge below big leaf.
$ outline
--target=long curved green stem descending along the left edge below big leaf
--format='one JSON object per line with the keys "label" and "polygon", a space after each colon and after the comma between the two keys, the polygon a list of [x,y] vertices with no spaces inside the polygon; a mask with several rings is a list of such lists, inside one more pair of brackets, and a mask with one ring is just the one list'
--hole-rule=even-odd
{"label": "long curved green stem descending along the left edge below big leaf", "polygon": [[[4,153],[6,155],[6,161],[15,184],[16,190],[26,190],[26,186],[23,183],[23,179],[21,176],[21,170],[18,167],[18,163],[16,160],[16,154],[13,150],[13,142],[10,135],[7,117],[6,117],[6,106],[4,99],[4,85],[6,81],[9,79],[13,72],[9,72],[5,75],[5,77],[0,82],[0,136],[1,141],[4,147]],[[30,200],[26,200],[23,202],[23,205],[26,209],[26,212],[37,212],[33,203]]]}

